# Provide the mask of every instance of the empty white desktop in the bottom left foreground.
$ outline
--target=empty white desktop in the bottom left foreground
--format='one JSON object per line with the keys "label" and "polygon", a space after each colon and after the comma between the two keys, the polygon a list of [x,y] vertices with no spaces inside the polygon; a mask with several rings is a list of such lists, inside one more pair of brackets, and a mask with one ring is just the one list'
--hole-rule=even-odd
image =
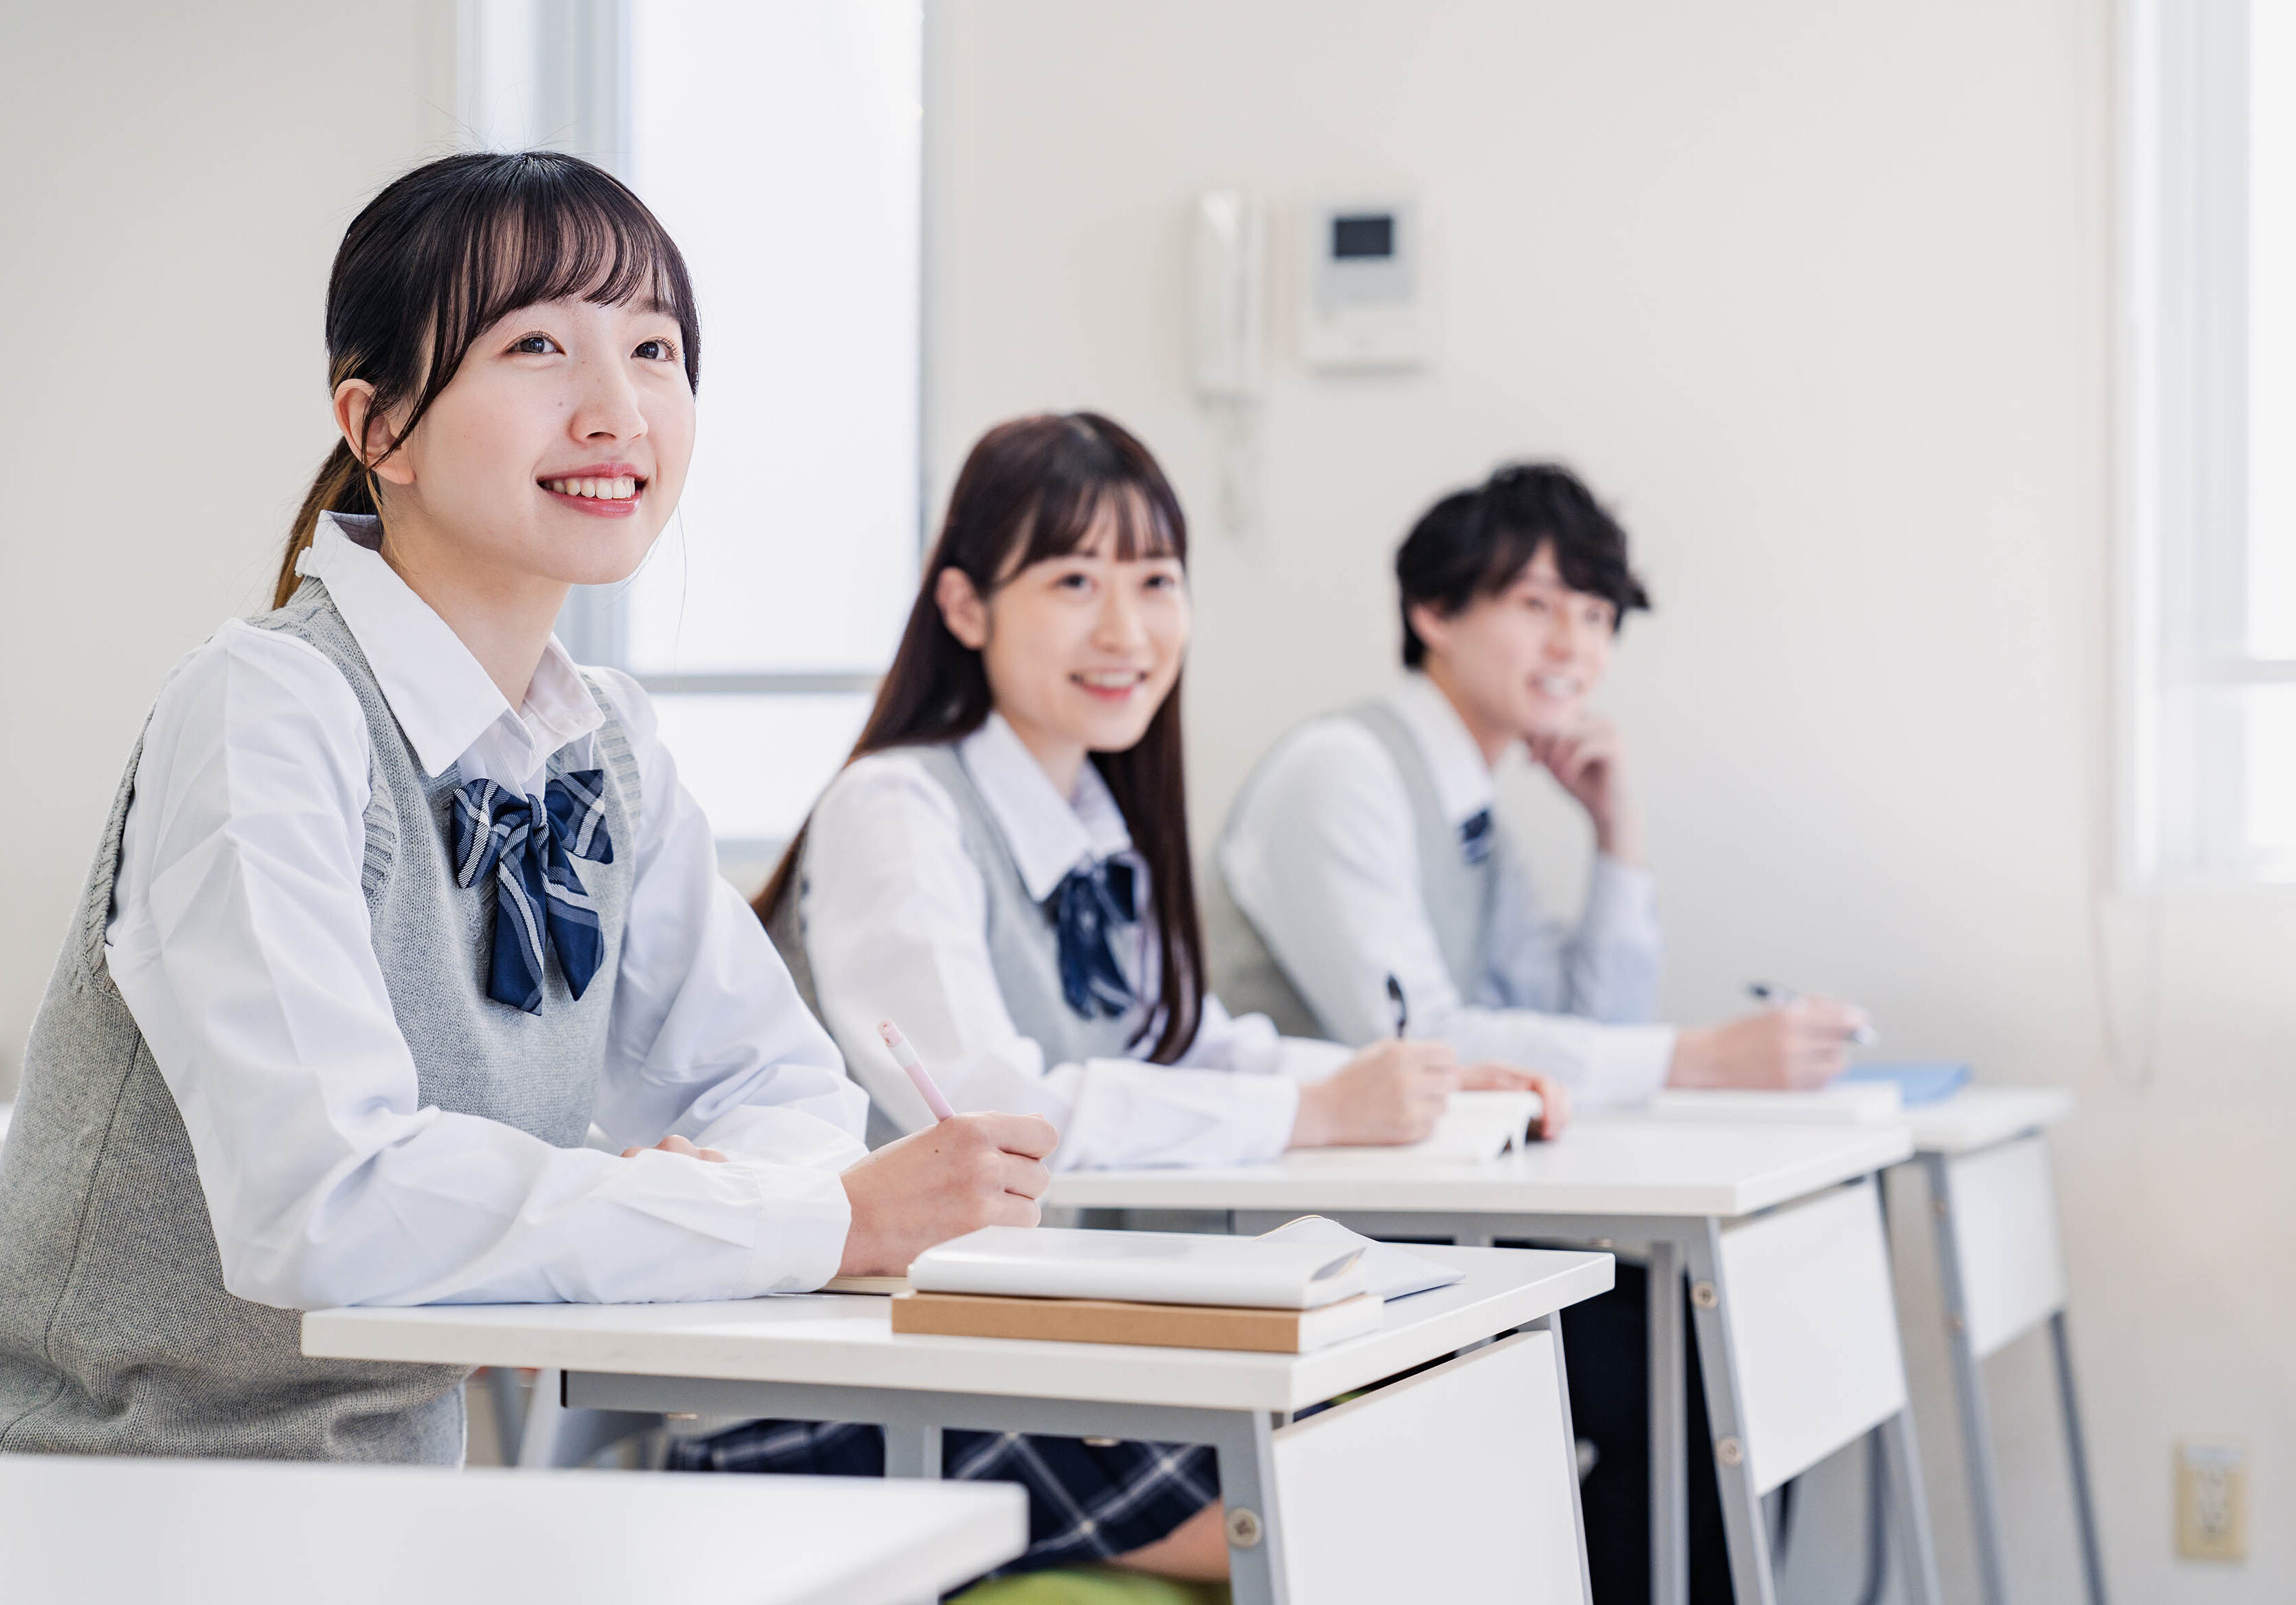
{"label": "empty white desktop in the bottom left foreground", "polygon": [[996,1483],[0,1456],[16,1600],[895,1605],[1026,1543]]}

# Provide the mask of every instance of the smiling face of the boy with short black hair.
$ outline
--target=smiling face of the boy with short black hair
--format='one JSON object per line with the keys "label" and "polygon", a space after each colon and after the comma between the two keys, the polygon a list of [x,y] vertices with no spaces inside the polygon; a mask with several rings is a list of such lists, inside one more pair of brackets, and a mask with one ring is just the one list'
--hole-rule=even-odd
{"label": "smiling face of the boy with short black hair", "polygon": [[1609,668],[1619,615],[1607,597],[1570,590],[1543,544],[1506,590],[1451,618],[1414,608],[1412,629],[1437,659],[1469,723],[1506,737],[1575,730]]}

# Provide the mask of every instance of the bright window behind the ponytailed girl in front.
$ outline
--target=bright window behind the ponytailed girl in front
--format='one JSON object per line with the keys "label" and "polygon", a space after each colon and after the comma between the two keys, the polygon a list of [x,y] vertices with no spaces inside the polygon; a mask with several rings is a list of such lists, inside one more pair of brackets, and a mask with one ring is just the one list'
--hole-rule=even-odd
{"label": "bright window behind the ponytailed girl in front", "polygon": [[464,51],[480,140],[604,161],[687,253],[693,471],[565,634],[652,691],[721,845],[760,856],[843,762],[916,595],[921,5],[473,0]]}

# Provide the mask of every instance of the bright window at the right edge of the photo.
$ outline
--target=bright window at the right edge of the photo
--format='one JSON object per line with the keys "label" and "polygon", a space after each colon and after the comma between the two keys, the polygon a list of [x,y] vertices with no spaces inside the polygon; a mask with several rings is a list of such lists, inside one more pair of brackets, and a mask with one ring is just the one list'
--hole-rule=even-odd
{"label": "bright window at the right edge of the photo", "polygon": [[2296,7],[2131,0],[2138,879],[2296,879]]}

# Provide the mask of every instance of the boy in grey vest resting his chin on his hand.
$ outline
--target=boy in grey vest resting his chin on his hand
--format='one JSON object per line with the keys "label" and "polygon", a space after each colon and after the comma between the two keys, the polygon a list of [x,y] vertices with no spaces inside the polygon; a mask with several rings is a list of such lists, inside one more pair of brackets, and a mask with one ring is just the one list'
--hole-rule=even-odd
{"label": "boy in grey vest resting his chin on his hand", "polygon": [[[1621,620],[1649,608],[1626,533],[1570,471],[1499,468],[1437,501],[1396,553],[1403,682],[1283,737],[1244,783],[1212,889],[1215,985],[1283,1031],[1398,1029],[1460,1061],[1561,1079],[1589,1107],[1660,1086],[1816,1086],[1864,1015],[1805,999],[1715,1026],[1651,1024],[1660,930],[1616,728],[1589,707]],[[1492,813],[1522,746],[1593,824],[1575,925],[1552,921]],[[1226,891],[1228,900],[1221,900]],[[1238,918],[1240,914],[1240,918]],[[1401,990],[1401,1006],[1389,992]],[[1649,1589],[1642,1272],[1566,1316],[1598,1598]],[[1692,1421],[1704,1414],[1690,1368]],[[1694,1596],[1729,1598],[1713,1467],[1694,1458]]]}

